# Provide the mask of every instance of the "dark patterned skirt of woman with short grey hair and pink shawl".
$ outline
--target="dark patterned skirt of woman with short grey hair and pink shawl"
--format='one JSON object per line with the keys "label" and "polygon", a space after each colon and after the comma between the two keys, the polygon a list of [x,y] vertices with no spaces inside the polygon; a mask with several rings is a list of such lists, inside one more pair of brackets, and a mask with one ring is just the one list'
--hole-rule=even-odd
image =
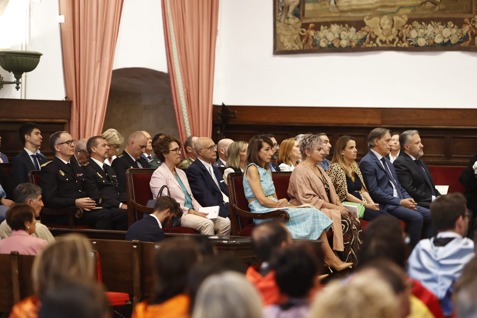
{"label": "dark patterned skirt of woman with short grey hair and pink shawl", "polygon": [[350,262],[356,265],[358,263],[358,258],[356,254],[362,240],[362,230],[360,221],[354,216],[350,215],[349,217],[341,216],[341,226],[343,229],[343,251],[334,251],[336,256],[338,256],[343,262]]}

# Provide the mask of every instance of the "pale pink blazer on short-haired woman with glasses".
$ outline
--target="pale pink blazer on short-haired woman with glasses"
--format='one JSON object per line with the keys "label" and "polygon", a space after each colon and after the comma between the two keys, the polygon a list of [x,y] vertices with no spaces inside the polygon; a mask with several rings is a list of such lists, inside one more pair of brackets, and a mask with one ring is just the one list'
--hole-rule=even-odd
{"label": "pale pink blazer on short-haired woman with glasses", "polygon": [[[182,181],[182,183],[187,189],[187,193],[192,198],[192,206],[194,207],[194,210],[198,211],[198,209],[201,208],[202,205],[200,205],[194,198],[194,195],[192,195],[192,191],[190,190],[189,181],[187,180],[186,173],[181,169],[175,169],[177,176],[180,178],[180,181]],[[161,186],[163,185],[167,185],[171,193],[171,198],[174,198],[177,201],[177,203],[181,206],[184,215],[186,215],[189,212],[189,208],[184,206],[186,202],[186,196],[182,191],[182,187],[177,182],[176,177],[174,176],[174,174],[172,174],[172,172],[169,170],[165,163],[162,163],[159,168],[154,171],[151,177],[151,181],[149,182],[153,198],[156,199],[156,196],[159,193]],[[166,190],[164,190],[162,194],[167,195]]]}

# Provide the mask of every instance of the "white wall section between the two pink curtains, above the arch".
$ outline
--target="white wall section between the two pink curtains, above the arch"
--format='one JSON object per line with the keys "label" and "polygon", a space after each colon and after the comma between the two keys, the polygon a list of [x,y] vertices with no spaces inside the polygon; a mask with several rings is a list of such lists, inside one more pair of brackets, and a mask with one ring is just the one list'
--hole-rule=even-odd
{"label": "white wall section between the two pink curtains, above the arch", "polygon": [[160,0],[124,0],[113,70],[126,67],[167,73]]}

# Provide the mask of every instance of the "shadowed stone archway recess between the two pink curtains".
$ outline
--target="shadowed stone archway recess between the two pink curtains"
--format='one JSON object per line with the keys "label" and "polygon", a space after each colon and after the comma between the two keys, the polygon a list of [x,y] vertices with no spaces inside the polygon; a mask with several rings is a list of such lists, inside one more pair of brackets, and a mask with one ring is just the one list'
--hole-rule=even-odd
{"label": "shadowed stone archway recess between the two pink curtains", "polygon": [[146,68],[114,70],[103,131],[108,128],[124,140],[137,130],[178,137],[169,75]]}

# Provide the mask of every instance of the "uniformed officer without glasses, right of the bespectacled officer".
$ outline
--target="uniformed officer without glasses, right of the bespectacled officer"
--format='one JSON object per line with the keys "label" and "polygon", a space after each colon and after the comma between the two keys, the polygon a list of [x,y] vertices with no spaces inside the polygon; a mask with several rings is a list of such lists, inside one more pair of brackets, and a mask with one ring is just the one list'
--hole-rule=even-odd
{"label": "uniformed officer without glasses, right of the bespectacled officer", "polygon": [[126,193],[121,192],[118,179],[113,168],[104,163],[108,157],[109,146],[103,136],[88,139],[86,149],[90,154],[89,160],[83,164],[88,182],[97,185],[103,206],[113,214],[113,229],[127,231]]}

